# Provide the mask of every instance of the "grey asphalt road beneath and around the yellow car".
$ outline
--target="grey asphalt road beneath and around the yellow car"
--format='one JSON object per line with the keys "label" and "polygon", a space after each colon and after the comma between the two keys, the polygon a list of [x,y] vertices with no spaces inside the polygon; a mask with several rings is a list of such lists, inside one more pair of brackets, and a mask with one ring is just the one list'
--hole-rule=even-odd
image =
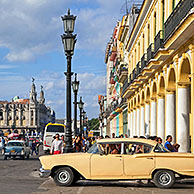
{"label": "grey asphalt road beneath and around the yellow car", "polygon": [[40,178],[37,156],[28,160],[8,159],[0,156],[0,194],[163,194],[194,193],[194,181],[176,183],[172,189],[161,190],[152,183],[79,181],[72,187],[56,186],[51,178]]}

